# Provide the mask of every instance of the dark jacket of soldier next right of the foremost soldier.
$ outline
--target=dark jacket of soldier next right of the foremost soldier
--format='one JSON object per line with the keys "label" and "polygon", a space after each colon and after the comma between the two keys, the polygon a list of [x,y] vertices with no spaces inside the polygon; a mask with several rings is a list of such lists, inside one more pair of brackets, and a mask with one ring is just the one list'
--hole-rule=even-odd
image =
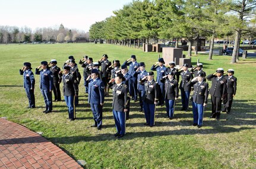
{"label": "dark jacket of soldier next right of the foremost soldier", "polygon": [[145,82],[145,92],[142,97],[142,100],[148,104],[154,104],[154,102],[158,102],[160,94],[159,85],[152,80],[152,82]]}

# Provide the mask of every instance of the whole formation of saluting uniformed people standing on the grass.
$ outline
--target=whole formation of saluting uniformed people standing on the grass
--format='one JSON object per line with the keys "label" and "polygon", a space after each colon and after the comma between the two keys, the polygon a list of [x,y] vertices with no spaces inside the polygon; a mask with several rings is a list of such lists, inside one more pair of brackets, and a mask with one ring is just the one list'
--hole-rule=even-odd
{"label": "whole formation of saluting uniformed people standing on the grass", "polygon": [[[175,67],[174,62],[166,64],[163,58],[159,58],[151,67],[151,71],[147,72],[146,64],[138,63],[135,55],[121,64],[119,60],[109,61],[108,54],[103,54],[102,58],[96,62],[93,62],[93,58],[84,56],[78,64],[83,67],[84,93],[88,95],[88,103],[94,119],[92,127],[102,128],[105,97],[109,97],[109,90],[112,89],[112,112],[117,131],[115,137],[118,138],[125,135],[125,122],[129,119],[131,100],[140,102],[138,111],[144,112],[146,119],[144,125],[153,127],[156,106],[165,105],[166,117],[170,120],[175,117],[175,103],[180,91],[182,103],[180,111],[189,110],[190,97],[193,113],[192,125],[201,128],[208,94],[211,95],[210,118],[216,118],[216,120],[220,119],[220,112],[230,112],[233,97],[236,94],[237,79],[233,76],[235,73],[233,69],[225,72],[222,68],[218,68],[216,73],[206,76],[202,63],[198,63],[189,70],[187,63],[182,67]],[[24,88],[29,99],[27,108],[33,109],[36,107],[35,78],[31,69],[31,63],[26,62],[20,69],[20,74],[24,77]],[[43,113],[51,113],[52,102],[61,101],[60,83],[63,83],[63,95],[68,108],[69,120],[74,121],[75,106],[79,103],[78,90],[81,81],[75,58],[69,56],[62,70],[57,66],[55,59],[50,60],[49,63],[42,61],[35,73],[40,76],[40,91],[45,100]],[[154,80],[155,74],[156,81]],[[208,89],[206,80],[211,81],[210,89]],[[192,96],[190,96],[191,92]]]}

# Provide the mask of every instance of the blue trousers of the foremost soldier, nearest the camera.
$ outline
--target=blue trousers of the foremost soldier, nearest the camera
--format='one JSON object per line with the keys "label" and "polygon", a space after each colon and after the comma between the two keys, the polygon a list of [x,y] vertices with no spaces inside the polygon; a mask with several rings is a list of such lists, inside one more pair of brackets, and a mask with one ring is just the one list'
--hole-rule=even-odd
{"label": "blue trousers of the foremost soldier, nearest the camera", "polygon": [[125,112],[118,112],[113,110],[113,116],[115,119],[116,131],[120,135],[125,134]]}

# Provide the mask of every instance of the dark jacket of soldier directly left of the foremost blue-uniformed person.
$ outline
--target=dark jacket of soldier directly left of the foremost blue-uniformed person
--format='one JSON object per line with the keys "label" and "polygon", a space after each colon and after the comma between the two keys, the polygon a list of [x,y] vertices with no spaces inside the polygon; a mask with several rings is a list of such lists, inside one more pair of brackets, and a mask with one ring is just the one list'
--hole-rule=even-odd
{"label": "dark jacket of soldier directly left of the foremost blue-uniformed person", "polygon": [[71,73],[68,73],[67,75],[63,74],[62,81],[64,96],[78,95],[77,79],[75,79],[75,77]]}

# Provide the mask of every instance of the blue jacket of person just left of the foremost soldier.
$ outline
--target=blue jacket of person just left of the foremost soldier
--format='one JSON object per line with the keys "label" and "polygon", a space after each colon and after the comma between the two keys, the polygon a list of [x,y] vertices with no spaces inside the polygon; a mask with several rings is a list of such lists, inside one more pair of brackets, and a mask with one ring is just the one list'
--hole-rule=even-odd
{"label": "blue jacket of person just left of the foremost soldier", "polygon": [[88,88],[88,102],[93,104],[104,103],[104,84],[102,80],[98,77],[93,81],[89,80]]}

